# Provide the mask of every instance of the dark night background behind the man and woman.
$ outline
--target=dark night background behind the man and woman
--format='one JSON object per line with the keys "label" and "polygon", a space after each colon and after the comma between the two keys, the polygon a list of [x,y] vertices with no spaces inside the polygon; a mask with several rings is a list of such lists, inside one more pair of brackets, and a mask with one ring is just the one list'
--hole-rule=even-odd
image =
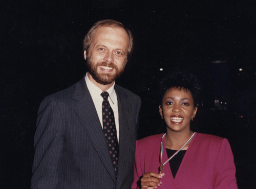
{"label": "dark night background behind the man and woman", "polygon": [[83,37],[109,18],[135,36],[117,83],[142,99],[139,137],[164,132],[155,97],[160,76],[194,72],[204,84],[194,130],[228,138],[239,188],[256,188],[254,2],[2,1],[0,188],[30,188],[39,104],[83,77]]}

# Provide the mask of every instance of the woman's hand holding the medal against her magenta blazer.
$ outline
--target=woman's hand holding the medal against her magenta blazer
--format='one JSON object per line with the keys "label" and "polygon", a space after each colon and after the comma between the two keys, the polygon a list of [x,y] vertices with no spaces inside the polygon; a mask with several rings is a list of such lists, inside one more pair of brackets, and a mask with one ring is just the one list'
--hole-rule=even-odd
{"label": "woman's hand holding the medal against her magenta blazer", "polygon": [[162,184],[162,182],[159,180],[164,176],[164,173],[157,174],[154,172],[148,172],[143,174],[142,178],[140,179],[141,182],[141,189],[155,189],[158,186]]}

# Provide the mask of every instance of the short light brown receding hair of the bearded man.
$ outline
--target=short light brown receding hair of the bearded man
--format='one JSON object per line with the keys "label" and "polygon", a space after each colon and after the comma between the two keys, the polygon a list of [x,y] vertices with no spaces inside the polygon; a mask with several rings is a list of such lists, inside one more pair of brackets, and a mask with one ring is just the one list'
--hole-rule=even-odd
{"label": "short light brown receding hair of the bearded man", "polygon": [[89,30],[89,32],[86,34],[86,37],[84,37],[83,39],[83,51],[88,52],[90,45],[92,43],[92,38],[95,33],[95,30],[100,27],[123,28],[126,31],[129,37],[129,48],[127,53],[127,60],[129,60],[131,58],[134,47],[134,39],[132,32],[126,27],[124,27],[121,22],[112,19],[99,20],[96,23],[94,23],[93,27]]}

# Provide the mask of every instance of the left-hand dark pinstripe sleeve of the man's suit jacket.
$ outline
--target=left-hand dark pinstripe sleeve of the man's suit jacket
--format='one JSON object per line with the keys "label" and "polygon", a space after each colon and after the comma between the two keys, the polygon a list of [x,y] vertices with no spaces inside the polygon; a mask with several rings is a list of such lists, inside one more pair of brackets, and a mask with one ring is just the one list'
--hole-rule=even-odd
{"label": "left-hand dark pinstripe sleeve of the man's suit jacket", "polygon": [[46,97],[40,104],[34,137],[31,188],[56,188],[63,150],[64,121],[57,102]]}

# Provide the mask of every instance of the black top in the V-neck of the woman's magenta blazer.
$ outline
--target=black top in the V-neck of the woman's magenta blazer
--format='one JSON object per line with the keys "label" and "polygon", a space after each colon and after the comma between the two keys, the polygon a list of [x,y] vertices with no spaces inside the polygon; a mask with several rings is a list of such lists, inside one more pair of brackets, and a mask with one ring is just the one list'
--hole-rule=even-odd
{"label": "black top in the V-neck of the woman's magenta blazer", "polygon": [[[177,150],[170,150],[166,148],[168,158],[172,156]],[[186,153],[186,150],[179,151],[171,160],[169,160],[170,170],[175,178],[176,173],[180,167],[180,163]]]}

